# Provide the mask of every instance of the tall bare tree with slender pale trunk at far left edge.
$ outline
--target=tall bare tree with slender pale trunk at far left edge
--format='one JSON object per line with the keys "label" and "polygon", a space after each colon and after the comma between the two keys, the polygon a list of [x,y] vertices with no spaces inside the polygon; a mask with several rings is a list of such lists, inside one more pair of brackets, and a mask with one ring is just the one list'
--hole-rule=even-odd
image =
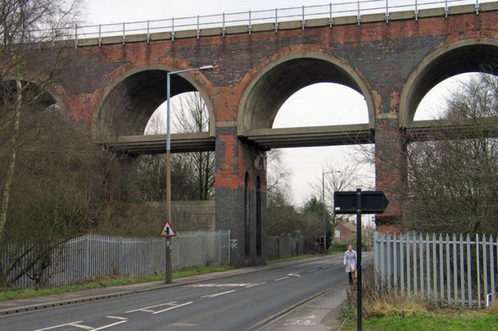
{"label": "tall bare tree with slender pale trunk at far left edge", "polygon": [[[9,210],[11,185],[16,168],[18,139],[23,133],[22,116],[24,109],[33,109],[43,104],[43,91],[51,82],[56,71],[58,52],[41,60],[43,49],[63,36],[73,24],[77,1],[50,0],[1,0],[0,1],[0,134],[9,136],[9,160],[1,191],[0,237]],[[40,65],[40,63],[43,65]],[[22,80],[24,71],[36,71],[36,82],[41,89],[33,89],[32,84]],[[15,88],[11,82],[15,82]],[[12,102],[15,100],[14,102]],[[39,107],[39,106],[38,106]]]}

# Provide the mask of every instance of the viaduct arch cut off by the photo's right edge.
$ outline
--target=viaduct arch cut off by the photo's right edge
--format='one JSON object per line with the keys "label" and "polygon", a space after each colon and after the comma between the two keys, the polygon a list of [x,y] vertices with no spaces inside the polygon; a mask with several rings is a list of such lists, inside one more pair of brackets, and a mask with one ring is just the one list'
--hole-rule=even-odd
{"label": "viaduct arch cut off by the photo's right edge", "polygon": [[439,82],[465,72],[486,72],[497,67],[498,40],[480,38],[443,45],[424,58],[403,86],[400,125],[410,125],[420,101]]}

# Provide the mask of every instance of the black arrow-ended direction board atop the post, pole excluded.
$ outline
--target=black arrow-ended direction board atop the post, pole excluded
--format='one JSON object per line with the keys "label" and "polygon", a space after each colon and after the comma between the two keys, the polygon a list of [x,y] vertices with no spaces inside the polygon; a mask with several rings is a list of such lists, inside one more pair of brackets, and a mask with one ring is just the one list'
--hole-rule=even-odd
{"label": "black arrow-ended direction board atop the post, pole excluded", "polygon": [[[357,195],[360,194],[360,205]],[[386,210],[389,200],[382,191],[343,191],[334,192],[334,211],[336,214],[380,214]]]}

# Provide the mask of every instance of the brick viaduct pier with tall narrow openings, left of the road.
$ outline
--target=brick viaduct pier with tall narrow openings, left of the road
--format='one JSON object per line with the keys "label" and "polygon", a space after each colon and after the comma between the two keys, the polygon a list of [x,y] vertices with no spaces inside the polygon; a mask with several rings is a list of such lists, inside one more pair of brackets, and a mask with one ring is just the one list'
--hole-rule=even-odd
{"label": "brick viaduct pier with tall narrow openings, left of the road", "polygon": [[238,139],[235,126],[216,129],[216,229],[231,230],[234,266],[265,264],[265,151]]}

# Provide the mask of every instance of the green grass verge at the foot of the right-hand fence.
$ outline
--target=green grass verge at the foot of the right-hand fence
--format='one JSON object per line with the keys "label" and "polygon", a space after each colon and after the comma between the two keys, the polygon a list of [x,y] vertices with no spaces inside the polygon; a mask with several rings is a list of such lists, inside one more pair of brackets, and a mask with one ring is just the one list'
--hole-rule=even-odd
{"label": "green grass verge at the foot of the right-hand fence", "polygon": [[[348,320],[342,331],[356,330],[356,320]],[[425,313],[409,317],[389,316],[383,318],[364,318],[362,330],[365,331],[492,331],[498,330],[498,315],[486,310],[466,310],[461,313]]]}

